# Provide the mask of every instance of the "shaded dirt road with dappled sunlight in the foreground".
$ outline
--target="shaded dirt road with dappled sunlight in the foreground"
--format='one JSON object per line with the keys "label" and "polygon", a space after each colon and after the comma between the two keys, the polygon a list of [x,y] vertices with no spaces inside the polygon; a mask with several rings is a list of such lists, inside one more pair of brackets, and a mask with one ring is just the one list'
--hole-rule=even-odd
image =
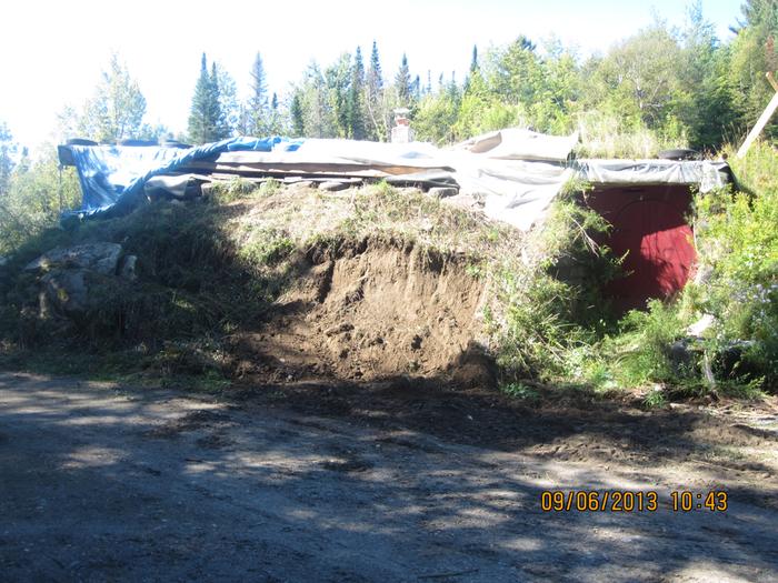
{"label": "shaded dirt road with dappled sunlight in the foreground", "polygon": [[[778,581],[767,433],[727,468],[680,440],[695,418],[668,430],[689,456],[661,463],[611,452],[618,425],[497,448],[478,409],[460,416],[482,431],[449,434],[359,403],[313,414],[293,396],[0,373],[0,580]],[[516,419],[516,435],[557,430],[541,413]],[[729,509],[671,512],[679,487],[727,489]],[[546,489],[654,490],[660,505],[543,513]]]}

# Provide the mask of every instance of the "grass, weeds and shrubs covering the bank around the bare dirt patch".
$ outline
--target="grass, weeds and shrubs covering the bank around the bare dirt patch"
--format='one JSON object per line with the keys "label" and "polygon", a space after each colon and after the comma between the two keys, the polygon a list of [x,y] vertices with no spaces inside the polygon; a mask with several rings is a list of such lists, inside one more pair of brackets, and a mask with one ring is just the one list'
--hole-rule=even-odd
{"label": "grass, weeds and shrubs covering the bank around the bare dirt patch", "polygon": [[[698,195],[701,269],[712,268],[707,283],[690,283],[676,301],[652,301],[647,311],[620,320],[598,293],[618,273],[620,258],[596,243],[608,224],[579,203],[587,190],[580,183],[566,189],[541,229],[519,237],[415,189],[379,183],[326,193],[236,180],[205,204],[157,202],[123,218],[43,230],[17,248],[7,269],[19,273],[54,245],[123,241],[139,257],[143,277],[122,298],[122,318],[98,306],[89,325],[57,342],[86,343],[102,354],[96,361],[106,359],[106,368],[81,363],[96,374],[134,374],[140,368],[166,382],[205,379],[218,385],[235,366],[228,339],[261,321],[293,287],[299,258],[311,249],[327,253],[348,241],[379,238],[412,243],[430,261],[457,249],[468,257],[467,272],[487,287],[485,330],[506,394],[537,400],[531,386],[540,382],[595,395],[644,389],[647,408],[711,390],[751,399],[775,382],[778,243],[768,229],[778,208],[775,168],[778,153],[759,144],[738,170],[744,185],[761,195],[729,190]],[[64,371],[72,363],[46,348],[57,335],[34,315],[28,280],[10,278],[12,285],[0,290],[4,358],[18,354],[14,346],[42,346],[38,356],[48,354]],[[688,355],[679,360],[670,348],[702,313],[712,314],[716,324],[704,339],[689,341]],[[739,352],[728,364],[732,345]]]}

